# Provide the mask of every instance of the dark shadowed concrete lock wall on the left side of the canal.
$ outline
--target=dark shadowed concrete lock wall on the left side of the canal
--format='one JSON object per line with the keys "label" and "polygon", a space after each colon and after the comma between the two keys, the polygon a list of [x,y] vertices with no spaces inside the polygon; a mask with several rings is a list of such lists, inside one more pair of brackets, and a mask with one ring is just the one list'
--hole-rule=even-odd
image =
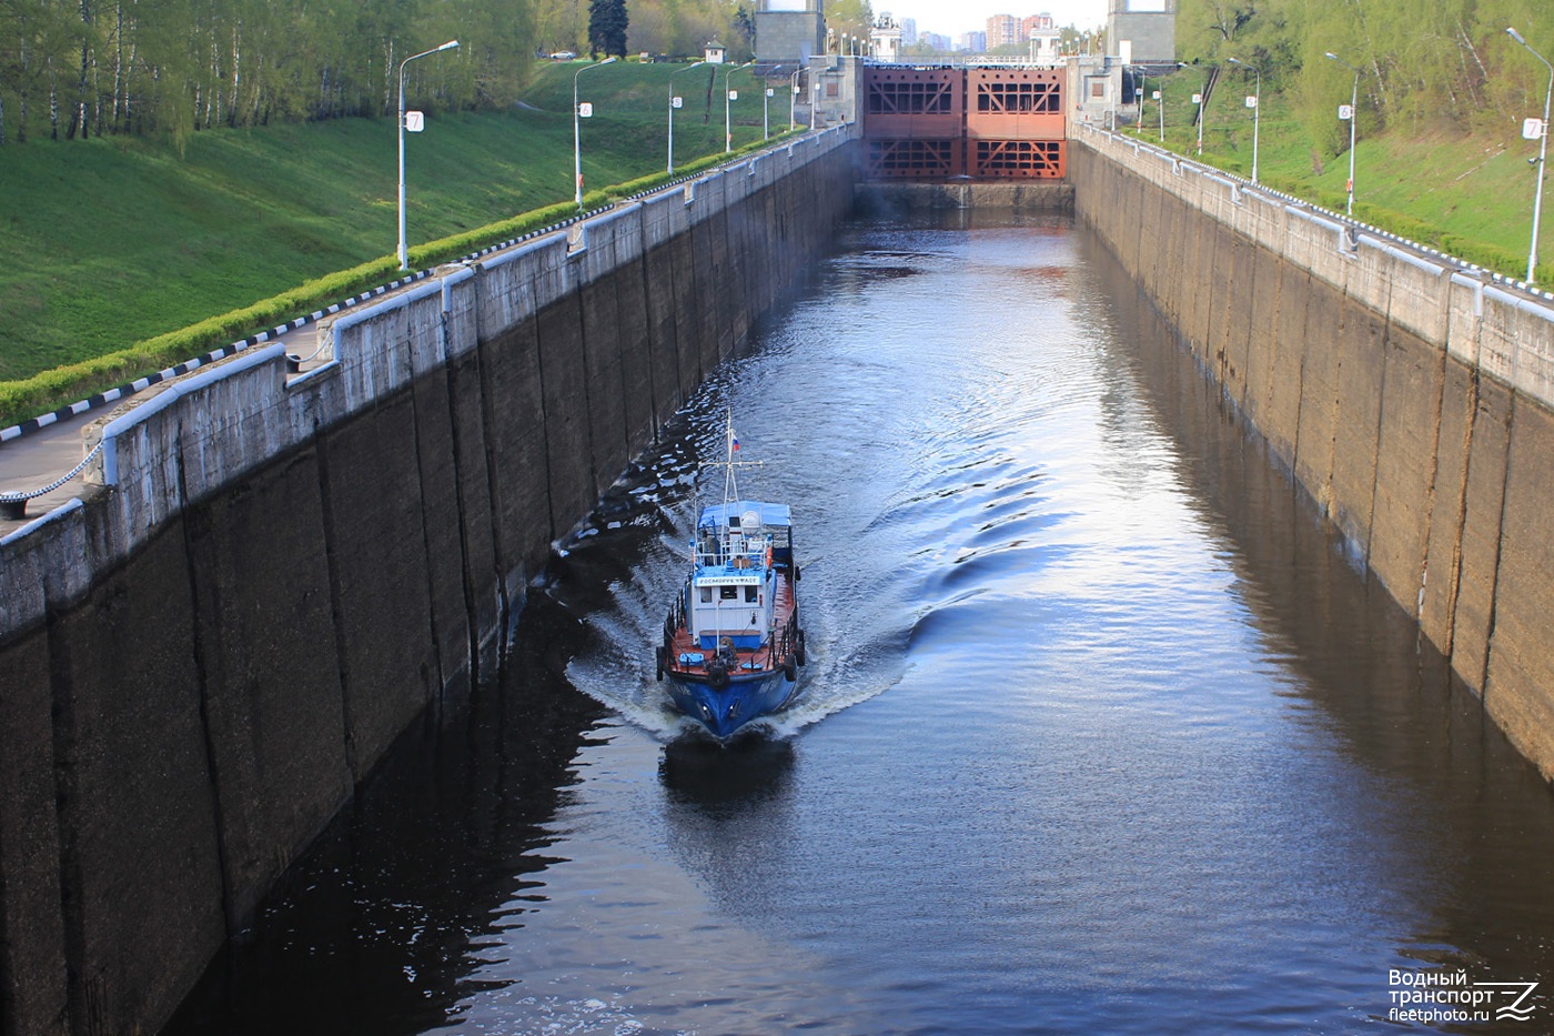
{"label": "dark shadowed concrete lock wall on the left side of the canal", "polygon": [[98,422],[0,540],[0,1033],[154,1031],[830,241],[839,128]]}

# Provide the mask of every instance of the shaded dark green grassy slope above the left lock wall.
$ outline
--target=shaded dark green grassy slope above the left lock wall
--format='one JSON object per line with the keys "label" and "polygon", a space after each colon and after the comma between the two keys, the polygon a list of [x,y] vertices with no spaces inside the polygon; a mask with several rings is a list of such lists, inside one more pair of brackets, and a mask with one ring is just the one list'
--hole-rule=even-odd
{"label": "shaded dark green grassy slope above the left lock wall", "polygon": [[[527,100],[541,110],[430,117],[406,135],[412,246],[570,198],[578,67],[539,70]],[[598,112],[583,123],[589,190],[662,168],[674,68],[615,64],[581,78]],[[723,145],[721,103],[701,118],[702,73],[674,81],[687,96],[678,162]],[[740,145],[760,137],[760,93],[744,73],[733,82]],[[392,118],[200,132],[182,156],[155,140],[8,145],[0,182],[0,381],[392,255],[396,241]]]}

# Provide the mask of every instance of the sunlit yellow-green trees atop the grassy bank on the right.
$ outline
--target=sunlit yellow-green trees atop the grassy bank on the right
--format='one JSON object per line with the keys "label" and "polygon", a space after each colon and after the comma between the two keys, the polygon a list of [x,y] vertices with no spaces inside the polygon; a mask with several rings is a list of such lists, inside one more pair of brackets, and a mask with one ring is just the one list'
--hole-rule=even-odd
{"label": "sunlit yellow-green trees atop the grassy bank on the right", "polygon": [[[1312,137],[1336,154],[1349,129],[1335,118],[1360,73],[1358,129],[1506,132],[1542,115],[1549,70],[1517,44],[1554,61],[1548,0],[1179,0],[1176,54],[1189,64],[1228,58],[1282,89]],[[1221,72],[1237,72],[1226,65]]]}

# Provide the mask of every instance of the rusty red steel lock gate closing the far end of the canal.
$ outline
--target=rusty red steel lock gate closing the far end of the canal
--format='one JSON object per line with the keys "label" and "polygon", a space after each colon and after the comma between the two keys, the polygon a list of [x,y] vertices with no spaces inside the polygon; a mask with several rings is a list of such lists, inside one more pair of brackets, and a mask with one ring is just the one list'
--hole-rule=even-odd
{"label": "rusty red steel lock gate closing the far end of the canal", "polygon": [[1063,68],[864,68],[870,179],[1063,179]]}

